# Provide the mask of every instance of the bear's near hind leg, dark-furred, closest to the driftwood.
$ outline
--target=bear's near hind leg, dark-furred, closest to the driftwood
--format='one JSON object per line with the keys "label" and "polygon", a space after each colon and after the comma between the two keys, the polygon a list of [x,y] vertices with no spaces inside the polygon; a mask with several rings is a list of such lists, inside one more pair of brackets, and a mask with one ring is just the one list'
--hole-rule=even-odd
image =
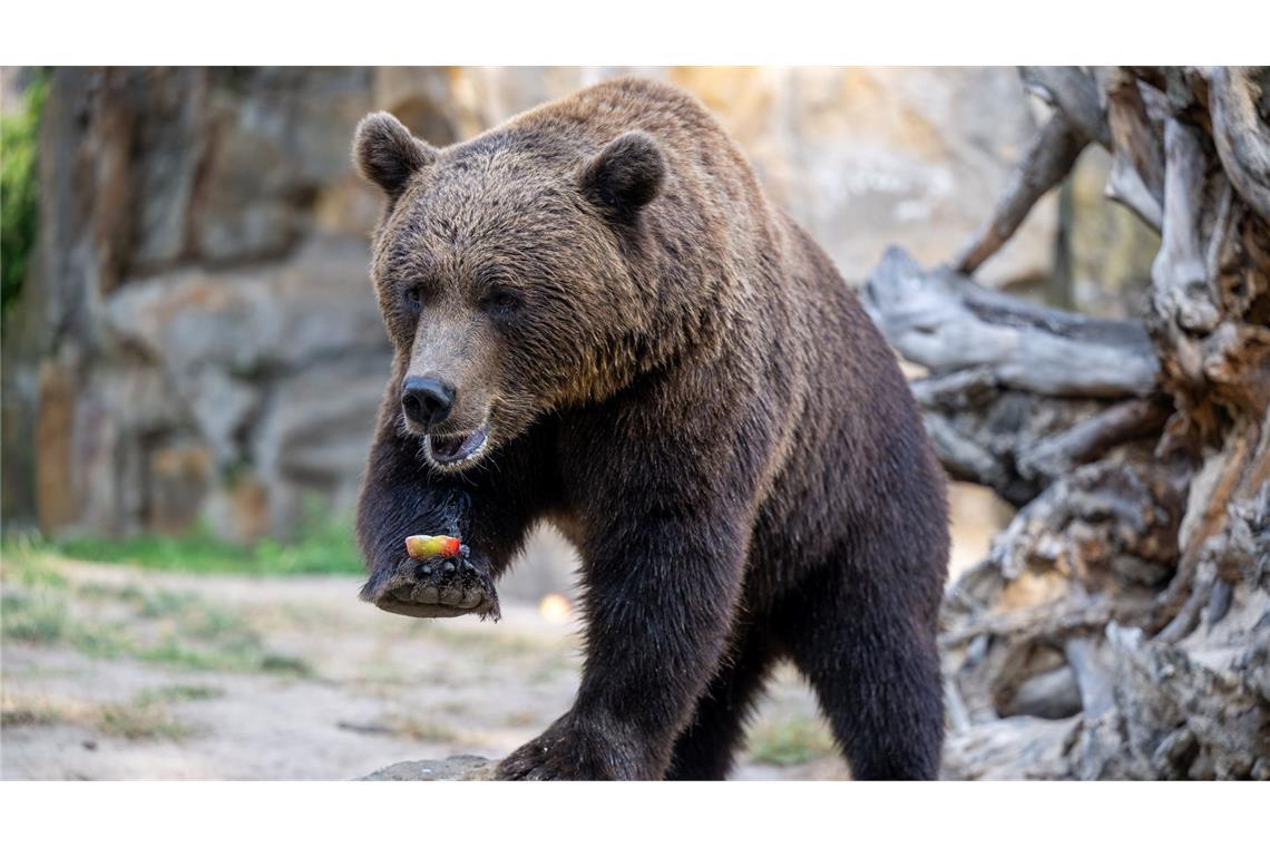
{"label": "bear's near hind leg, dark-furred, closest to the driftwood", "polygon": [[782,610],[781,630],[852,778],[933,780],[944,743],[937,603],[878,573],[829,577]]}

